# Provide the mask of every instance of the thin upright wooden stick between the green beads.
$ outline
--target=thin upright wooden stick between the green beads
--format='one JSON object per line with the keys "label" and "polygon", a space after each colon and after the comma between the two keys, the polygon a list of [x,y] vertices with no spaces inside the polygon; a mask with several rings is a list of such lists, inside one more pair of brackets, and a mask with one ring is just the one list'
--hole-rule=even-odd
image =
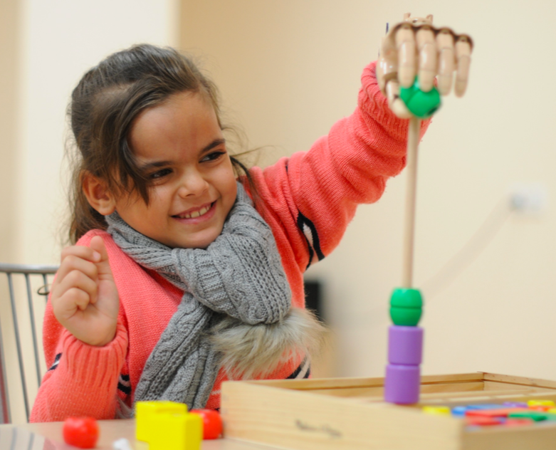
{"label": "thin upright wooden stick between the green beads", "polygon": [[413,284],[415,199],[417,189],[417,149],[419,147],[420,130],[421,120],[418,117],[411,117],[411,119],[409,119],[409,132],[407,133],[407,185],[402,288],[411,288]]}

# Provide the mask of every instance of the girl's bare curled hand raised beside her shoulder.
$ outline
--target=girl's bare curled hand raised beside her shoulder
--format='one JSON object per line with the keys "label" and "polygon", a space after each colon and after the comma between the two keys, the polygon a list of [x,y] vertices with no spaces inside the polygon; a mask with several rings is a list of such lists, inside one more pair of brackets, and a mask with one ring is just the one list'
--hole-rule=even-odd
{"label": "girl's bare curled hand raised beside her shoulder", "polygon": [[114,339],[120,298],[100,236],[90,247],[63,249],[51,303],[58,322],[85,344],[103,346]]}

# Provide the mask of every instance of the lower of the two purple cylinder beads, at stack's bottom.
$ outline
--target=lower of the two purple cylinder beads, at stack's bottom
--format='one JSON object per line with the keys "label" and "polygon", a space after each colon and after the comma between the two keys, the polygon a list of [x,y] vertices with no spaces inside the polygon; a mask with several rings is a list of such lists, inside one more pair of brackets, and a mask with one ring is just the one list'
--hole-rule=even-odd
{"label": "lower of the two purple cylinder beads, at stack's bottom", "polygon": [[397,404],[417,403],[420,384],[421,370],[418,365],[389,364],[384,380],[384,400]]}

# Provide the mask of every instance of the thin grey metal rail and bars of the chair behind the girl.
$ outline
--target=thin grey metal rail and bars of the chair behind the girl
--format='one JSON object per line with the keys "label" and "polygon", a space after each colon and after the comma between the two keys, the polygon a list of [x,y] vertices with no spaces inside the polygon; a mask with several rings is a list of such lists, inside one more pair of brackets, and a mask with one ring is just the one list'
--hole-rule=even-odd
{"label": "thin grey metal rail and bars of the chair behind the girl", "polygon": [[[25,377],[25,369],[23,367],[23,352],[21,350],[21,340],[19,338],[19,322],[17,320],[17,310],[16,310],[16,298],[14,293],[14,281],[13,275],[14,274],[22,274],[25,277],[26,283],[26,291],[27,291],[27,303],[29,308],[29,318],[31,319],[31,333],[33,337],[33,350],[34,350],[34,357],[35,357],[35,368],[36,368],[36,377],[38,386],[41,385],[41,364],[39,360],[39,352],[38,352],[38,340],[36,336],[36,327],[35,327],[35,313],[33,308],[33,294],[31,292],[31,280],[30,276],[32,274],[42,275],[43,276],[43,287],[46,287],[46,291],[41,293],[41,295],[48,295],[48,275],[53,275],[58,270],[58,266],[39,266],[39,265],[26,265],[26,264],[6,264],[0,263],[0,272],[6,273],[8,277],[8,286],[9,286],[9,295],[10,295],[10,302],[11,302],[11,315],[12,320],[14,321],[14,334],[16,339],[16,349],[17,349],[17,357],[19,362],[19,374],[21,377],[21,386],[23,389],[23,401],[25,402],[25,412],[27,417],[27,422],[29,420],[29,402],[28,402],[28,394],[27,394],[27,386],[26,386],[26,377]],[[8,385],[7,385],[7,377],[6,377],[6,362],[4,360],[4,345],[2,342],[2,333],[0,327],[0,364],[1,364],[1,371],[0,371],[0,397],[1,397],[1,413],[2,419],[0,422],[10,423],[11,422],[11,408],[9,404],[9,396],[8,396]]]}

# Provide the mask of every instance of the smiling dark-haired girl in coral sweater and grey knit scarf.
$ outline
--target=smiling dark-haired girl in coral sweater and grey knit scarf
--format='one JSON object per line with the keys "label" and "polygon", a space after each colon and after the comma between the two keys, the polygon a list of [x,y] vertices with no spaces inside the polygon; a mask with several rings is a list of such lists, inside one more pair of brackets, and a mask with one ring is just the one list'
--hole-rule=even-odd
{"label": "smiling dark-haired girl in coral sweater and grey knit scarf", "polygon": [[[405,164],[407,121],[365,68],[355,112],[266,169],[229,155],[214,85],[169,48],[109,56],[73,91],[70,236],[32,422],[217,409],[224,380],[310,374],[303,272]],[[428,122],[424,122],[423,130]]]}

